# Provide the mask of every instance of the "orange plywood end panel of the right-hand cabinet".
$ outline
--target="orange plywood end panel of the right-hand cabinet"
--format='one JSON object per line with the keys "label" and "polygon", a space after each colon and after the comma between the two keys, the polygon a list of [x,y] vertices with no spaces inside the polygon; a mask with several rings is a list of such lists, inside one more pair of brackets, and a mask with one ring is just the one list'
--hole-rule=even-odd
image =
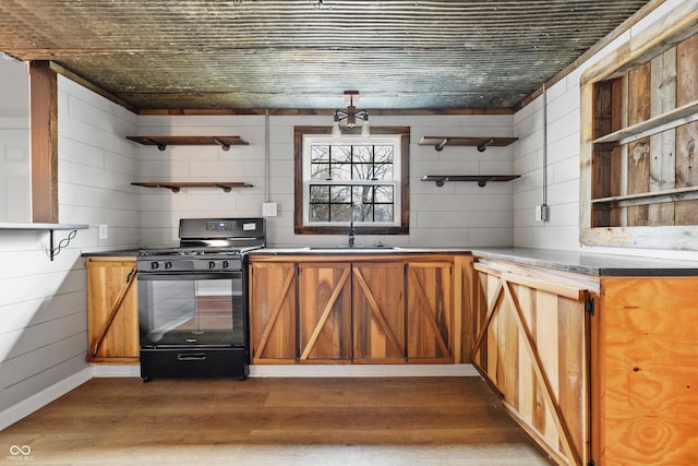
{"label": "orange plywood end panel of the right-hand cabinet", "polygon": [[698,464],[697,286],[695,277],[603,280],[601,464]]}

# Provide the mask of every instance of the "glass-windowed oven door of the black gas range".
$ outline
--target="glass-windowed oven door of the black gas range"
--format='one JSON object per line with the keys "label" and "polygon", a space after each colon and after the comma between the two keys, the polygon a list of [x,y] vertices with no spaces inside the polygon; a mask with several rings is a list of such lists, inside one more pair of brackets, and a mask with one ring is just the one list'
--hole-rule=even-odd
{"label": "glass-windowed oven door of the black gas range", "polygon": [[139,274],[141,348],[245,347],[244,274]]}

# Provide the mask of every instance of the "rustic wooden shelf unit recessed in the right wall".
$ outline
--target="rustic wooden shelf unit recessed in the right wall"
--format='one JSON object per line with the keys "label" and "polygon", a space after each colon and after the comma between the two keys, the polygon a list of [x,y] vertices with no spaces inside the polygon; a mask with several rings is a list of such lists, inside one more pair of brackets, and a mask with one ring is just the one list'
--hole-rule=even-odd
{"label": "rustic wooden shelf unit recessed in the right wall", "polygon": [[582,244],[698,250],[696,21],[681,7],[582,75]]}

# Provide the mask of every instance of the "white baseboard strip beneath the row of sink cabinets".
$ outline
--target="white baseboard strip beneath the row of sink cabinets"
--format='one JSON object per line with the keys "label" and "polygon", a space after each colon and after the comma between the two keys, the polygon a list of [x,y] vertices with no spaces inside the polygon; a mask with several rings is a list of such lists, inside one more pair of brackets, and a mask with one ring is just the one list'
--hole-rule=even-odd
{"label": "white baseboard strip beneath the row of sink cabinets", "polygon": [[264,377],[480,377],[472,365],[252,365]]}

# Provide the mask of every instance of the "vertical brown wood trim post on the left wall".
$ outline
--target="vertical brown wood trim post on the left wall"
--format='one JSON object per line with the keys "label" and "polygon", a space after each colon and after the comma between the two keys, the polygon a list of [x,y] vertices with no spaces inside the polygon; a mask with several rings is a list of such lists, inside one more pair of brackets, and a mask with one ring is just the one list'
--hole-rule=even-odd
{"label": "vertical brown wood trim post on the left wall", "polygon": [[58,223],[58,82],[46,60],[29,62],[32,222]]}

